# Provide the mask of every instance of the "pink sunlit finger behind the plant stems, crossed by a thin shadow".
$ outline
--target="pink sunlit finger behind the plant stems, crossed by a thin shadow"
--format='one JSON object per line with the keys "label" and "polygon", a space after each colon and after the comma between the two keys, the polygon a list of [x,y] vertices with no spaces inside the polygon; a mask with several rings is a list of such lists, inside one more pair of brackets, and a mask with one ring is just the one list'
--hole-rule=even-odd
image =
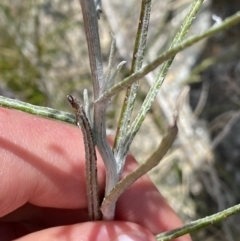
{"label": "pink sunlit finger behind the plant stems, crossed by a thin shadow", "polygon": [[[86,208],[84,151],[76,127],[0,108],[0,156],[0,216],[26,202],[42,207]],[[103,192],[104,166],[98,160]],[[134,158],[129,157],[125,174],[135,168]],[[147,201],[149,198],[152,200]],[[149,222],[152,218],[154,221]],[[147,176],[120,197],[116,219],[137,222],[153,233],[181,225]]]}

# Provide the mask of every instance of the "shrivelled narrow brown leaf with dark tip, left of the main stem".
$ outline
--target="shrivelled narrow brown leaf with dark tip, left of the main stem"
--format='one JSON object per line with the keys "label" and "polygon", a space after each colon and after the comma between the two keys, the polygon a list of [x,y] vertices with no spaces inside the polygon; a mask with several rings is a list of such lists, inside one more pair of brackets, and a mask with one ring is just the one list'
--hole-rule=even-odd
{"label": "shrivelled narrow brown leaf with dark tip, left of the main stem", "polygon": [[86,189],[88,198],[88,215],[91,220],[101,218],[99,209],[99,193],[97,182],[97,156],[94,146],[92,129],[83,105],[72,95],[67,96],[68,101],[76,114],[77,126],[83,133],[86,161]]}

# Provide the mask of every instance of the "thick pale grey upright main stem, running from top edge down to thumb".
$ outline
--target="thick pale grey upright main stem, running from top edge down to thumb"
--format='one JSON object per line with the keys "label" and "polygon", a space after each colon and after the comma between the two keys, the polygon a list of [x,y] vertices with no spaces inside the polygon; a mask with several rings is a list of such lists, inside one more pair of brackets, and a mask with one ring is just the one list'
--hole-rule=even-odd
{"label": "thick pale grey upright main stem, running from top edge down to thumb", "polygon": [[[82,7],[85,32],[87,36],[88,54],[94,89],[94,100],[96,100],[104,91],[103,87],[105,86],[97,14],[93,0],[80,0],[80,4]],[[94,104],[93,122],[93,132],[96,145],[104,161],[106,169],[105,195],[107,195],[113,189],[119,180],[116,161],[106,137],[105,118],[107,103],[108,99]],[[111,220],[114,218],[115,203],[109,207],[108,211],[108,216],[103,213],[103,218]]]}

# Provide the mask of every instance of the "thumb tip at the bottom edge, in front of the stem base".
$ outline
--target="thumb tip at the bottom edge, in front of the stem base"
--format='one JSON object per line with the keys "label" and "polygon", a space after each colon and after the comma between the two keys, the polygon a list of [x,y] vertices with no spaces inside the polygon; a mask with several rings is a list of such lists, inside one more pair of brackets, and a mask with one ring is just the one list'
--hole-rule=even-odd
{"label": "thumb tip at the bottom edge, in front of the stem base", "polygon": [[[18,241],[156,241],[145,228],[129,222],[87,222],[65,227],[55,227],[26,235]],[[125,238],[125,239],[124,239]]]}

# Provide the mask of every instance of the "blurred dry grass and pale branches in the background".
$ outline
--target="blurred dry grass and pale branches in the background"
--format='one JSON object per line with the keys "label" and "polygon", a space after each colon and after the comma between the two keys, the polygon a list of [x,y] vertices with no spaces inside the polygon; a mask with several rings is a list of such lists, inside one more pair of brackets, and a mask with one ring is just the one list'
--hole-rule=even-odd
{"label": "blurred dry grass and pale branches in the background", "polygon": [[[153,0],[145,64],[168,48],[191,0]],[[207,0],[188,36],[240,10],[238,0]],[[99,21],[106,69],[116,35],[115,65],[132,58],[140,2],[103,0]],[[78,1],[2,0],[0,3],[0,94],[31,104],[71,111],[66,95],[92,93],[86,40]],[[150,176],[181,218],[188,222],[240,200],[240,26],[179,53],[131,151],[143,162],[166,129],[177,96],[186,91],[180,132],[169,155]],[[154,80],[141,81],[135,115]],[[190,89],[189,89],[190,87]],[[124,91],[108,109],[108,133],[115,133]],[[159,207],[161,208],[161,207]],[[193,240],[239,240],[239,215],[193,234]]]}

